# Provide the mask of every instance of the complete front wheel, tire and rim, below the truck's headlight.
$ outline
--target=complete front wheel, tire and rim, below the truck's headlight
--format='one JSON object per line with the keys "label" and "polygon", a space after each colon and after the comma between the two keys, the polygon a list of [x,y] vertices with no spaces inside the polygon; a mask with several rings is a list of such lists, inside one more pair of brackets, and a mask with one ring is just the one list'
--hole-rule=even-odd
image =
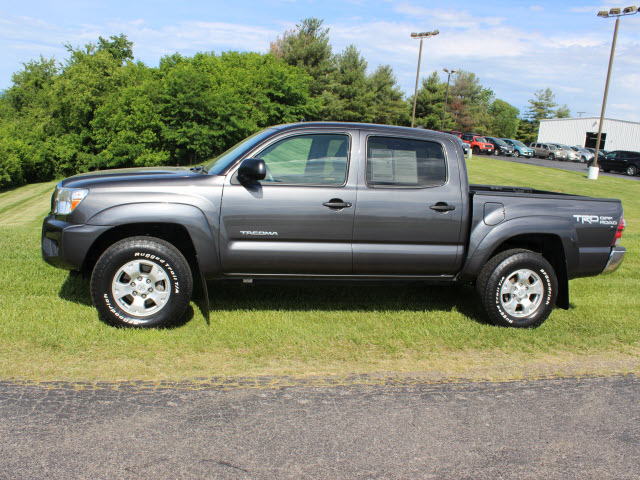
{"label": "complete front wheel, tire and rim, below the truck's headlight", "polygon": [[117,327],[158,328],[176,323],[183,318],[192,292],[193,277],[184,255],[154,237],[114,243],[91,274],[93,304],[106,322]]}

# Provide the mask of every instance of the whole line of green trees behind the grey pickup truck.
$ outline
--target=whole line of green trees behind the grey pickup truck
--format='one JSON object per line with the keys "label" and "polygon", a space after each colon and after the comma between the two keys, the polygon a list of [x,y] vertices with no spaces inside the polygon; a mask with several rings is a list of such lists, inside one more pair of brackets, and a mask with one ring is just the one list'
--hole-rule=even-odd
{"label": "whole line of green trees behind the grey pickup truck", "polygon": [[[63,63],[23,64],[0,95],[0,188],[91,170],[195,165],[270,125],[333,120],[410,125],[389,65],[368,73],[351,45],[334,54],[329,29],[308,18],[276,38],[267,54],[165,56],[135,61],[123,34],[83,47],[66,45]],[[439,129],[446,83],[433,72],[418,90],[416,125]],[[458,71],[445,129],[526,137],[557,110],[551,90],[536,92],[525,119]]]}

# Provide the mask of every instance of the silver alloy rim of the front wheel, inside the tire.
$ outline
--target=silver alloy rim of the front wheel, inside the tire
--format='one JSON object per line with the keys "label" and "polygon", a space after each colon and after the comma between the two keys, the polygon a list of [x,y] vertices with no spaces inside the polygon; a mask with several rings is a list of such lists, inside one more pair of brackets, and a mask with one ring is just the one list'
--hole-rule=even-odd
{"label": "silver alloy rim of the front wheel, inside the tire", "polygon": [[129,315],[148,317],[162,310],[171,297],[167,272],[150,260],[128,262],[116,272],[111,294]]}

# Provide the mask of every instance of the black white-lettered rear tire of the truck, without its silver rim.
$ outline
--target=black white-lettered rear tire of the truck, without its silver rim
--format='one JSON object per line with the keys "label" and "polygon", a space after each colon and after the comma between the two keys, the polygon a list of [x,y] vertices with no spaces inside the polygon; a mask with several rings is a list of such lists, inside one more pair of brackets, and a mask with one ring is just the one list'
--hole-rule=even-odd
{"label": "black white-lettered rear tire of the truck, without its silver rim", "polygon": [[[520,269],[535,272],[542,280],[544,289],[538,309],[527,317],[509,315],[500,302],[504,282]],[[540,255],[517,254],[506,258],[495,268],[487,283],[487,294],[491,295],[489,302],[487,302],[488,313],[495,324],[520,328],[535,327],[544,322],[553,310],[558,294],[558,281],[551,265]]]}

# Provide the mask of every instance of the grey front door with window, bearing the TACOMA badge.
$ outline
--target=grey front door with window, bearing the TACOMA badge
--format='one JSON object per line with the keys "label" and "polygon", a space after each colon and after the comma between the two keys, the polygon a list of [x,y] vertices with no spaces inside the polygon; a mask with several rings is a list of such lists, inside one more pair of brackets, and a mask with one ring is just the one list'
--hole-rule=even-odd
{"label": "grey front door with window, bearing the TACOMA badge", "polygon": [[352,273],[357,137],[288,133],[253,155],[267,166],[263,181],[243,185],[229,174],[220,225],[225,274]]}

